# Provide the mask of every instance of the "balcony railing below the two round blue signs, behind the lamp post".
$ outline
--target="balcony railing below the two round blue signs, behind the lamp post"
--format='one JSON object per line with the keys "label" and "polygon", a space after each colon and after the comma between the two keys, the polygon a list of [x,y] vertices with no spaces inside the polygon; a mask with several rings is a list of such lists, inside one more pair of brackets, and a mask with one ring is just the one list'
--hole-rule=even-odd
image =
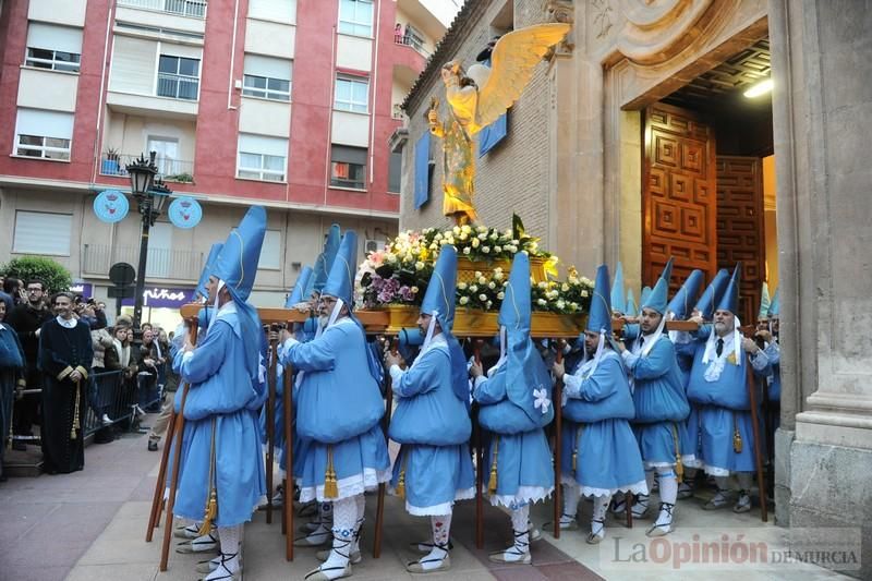
{"label": "balcony railing below the two round blue signs, behind the lamp post", "polygon": [[[137,264],[138,246],[112,246],[109,244],[85,244],[82,252],[82,273],[92,276],[108,276],[116,263]],[[148,249],[145,276],[196,281],[203,269],[203,253],[171,249]]]}

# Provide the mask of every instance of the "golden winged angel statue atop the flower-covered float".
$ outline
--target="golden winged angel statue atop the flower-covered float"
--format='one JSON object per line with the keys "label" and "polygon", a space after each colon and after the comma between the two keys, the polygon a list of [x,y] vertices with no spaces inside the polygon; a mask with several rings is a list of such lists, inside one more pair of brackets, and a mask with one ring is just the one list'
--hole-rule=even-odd
{"label": "golden winged angel statue atop the flower-covered float", "polygon": [[443,214],[458,225],[474,222],[475,160],[472,137],[518,100],[536,63],[569,32],[569,24],[536,24],[513,31],[494,45],[491,66],[458,61],[443,66],[448,118],[439,119],[438,99],[427,112],[429,131],[443,140]]}

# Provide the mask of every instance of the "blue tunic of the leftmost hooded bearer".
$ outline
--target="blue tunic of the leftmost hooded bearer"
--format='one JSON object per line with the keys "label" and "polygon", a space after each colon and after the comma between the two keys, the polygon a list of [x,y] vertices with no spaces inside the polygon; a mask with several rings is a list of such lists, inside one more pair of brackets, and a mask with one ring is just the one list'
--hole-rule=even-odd
{"label": "blue tunic of the leftmost hooded bearer", "polygon": [[175,354],[181,379],[190,385],[174,505],[178,517],[203,519],[210,472],[218,493],[217,526],[251,520],[266,494],[256,415],[263,394],[246,368],[243,347],[252,340],[259,338],[242,337],[231,302],[221,307],[194,351]]}

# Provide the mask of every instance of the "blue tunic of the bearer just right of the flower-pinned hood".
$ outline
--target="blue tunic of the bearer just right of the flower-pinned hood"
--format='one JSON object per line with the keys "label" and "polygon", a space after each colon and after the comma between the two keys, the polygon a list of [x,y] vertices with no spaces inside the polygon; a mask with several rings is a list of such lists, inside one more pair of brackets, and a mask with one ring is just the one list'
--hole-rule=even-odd
{"label": "blue tunic of the bearer just right of the flower-pinned hood", "polygon": [[568,420],[561,441],[564,482],[577,482],[584,496],[647,494],[642,456],[629,423],[633,400],[620,356],[605,351],[591,373],[592,367],[590,360],[564,376]]}

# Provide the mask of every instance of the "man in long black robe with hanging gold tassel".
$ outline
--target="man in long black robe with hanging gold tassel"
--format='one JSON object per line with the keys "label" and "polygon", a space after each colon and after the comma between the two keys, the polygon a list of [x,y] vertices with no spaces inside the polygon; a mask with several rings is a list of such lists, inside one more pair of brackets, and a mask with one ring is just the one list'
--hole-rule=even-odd
{"label": "man in long black robe with hanging gold tassel", "polygon": [[55,318],[39,332],[43,372],[43,470],[66,474],[85,468],[85,386],[94,350],[90,329],[73,316],[73,295],[52,299]]}

